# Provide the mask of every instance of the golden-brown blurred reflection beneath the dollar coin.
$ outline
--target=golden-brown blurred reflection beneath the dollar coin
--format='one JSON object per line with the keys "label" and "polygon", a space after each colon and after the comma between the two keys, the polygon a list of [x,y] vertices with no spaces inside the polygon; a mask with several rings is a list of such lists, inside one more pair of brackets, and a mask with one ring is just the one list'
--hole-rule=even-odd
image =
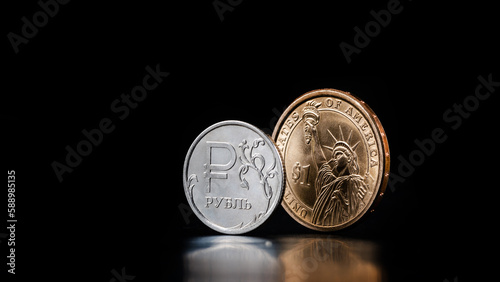
{"label": "golden-brown blurred reflection beneath the dollar coin", "polygon": [[285,281],[381,281],[374,243],[339,238],[283,238]]}

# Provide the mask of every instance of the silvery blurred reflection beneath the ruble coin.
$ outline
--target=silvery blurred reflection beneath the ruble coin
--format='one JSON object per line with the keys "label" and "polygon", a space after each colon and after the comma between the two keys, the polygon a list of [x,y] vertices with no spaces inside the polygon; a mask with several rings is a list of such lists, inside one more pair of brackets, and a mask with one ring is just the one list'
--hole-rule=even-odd
{"label": "silvery blurred reflection beneath the ruble coin", "polygon": [[260,238],[195,238],[183,259],[186,281],[278,281],[281,275],[276,247]]}

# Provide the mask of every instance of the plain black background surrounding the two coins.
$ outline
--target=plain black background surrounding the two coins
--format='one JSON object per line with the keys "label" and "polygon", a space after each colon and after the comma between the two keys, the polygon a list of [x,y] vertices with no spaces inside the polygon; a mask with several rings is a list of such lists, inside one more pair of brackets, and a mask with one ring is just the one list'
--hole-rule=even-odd
{"label": "plain black background surrounding the two coins", "polygon": [[[370,105],[392,173],[416,139],[436,128],[447,136],[372,216],[337,235],[382,242],[393,281],[493,270],[476,262],[487,260],[496,232],[500,88],[456,130],[443,119],[474,95],[478,76],[500,81],[493,4],[401,1],[401,13],[347,63],[339,44],[354,45],[354,27],[389,1],[242,1],[223,21],[213,1],[71,1],[17,54],[7,34],[21,34],[21,18],[40,6],[13,2],[2,13],[2,93],[5,165],[16,170],[15,279],[109,281],[123,267],[136,281],[180,279],[182,239],[216,234],[182,213],[191,142],[227,119],[270,133],[294,99],[319,88]],[[157,65],[169,76],[120,120],[111,103]],[[103,118],[115,130],[59,182],[51,164]],[[306,233],[317,232],[278,208],[249,235]],[[1,247],[3,262],[3,239]]]}

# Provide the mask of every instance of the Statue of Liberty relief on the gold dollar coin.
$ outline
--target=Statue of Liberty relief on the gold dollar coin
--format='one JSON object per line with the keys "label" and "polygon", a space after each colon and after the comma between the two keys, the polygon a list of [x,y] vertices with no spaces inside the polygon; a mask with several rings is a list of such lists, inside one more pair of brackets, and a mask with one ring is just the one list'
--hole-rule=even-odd
{"label": "Statue of Liberty relief on the gold dollar coin", "polygon": [[[302,110],[304,138],[311,146],[312,159],[317,167],[314,183],[316,200],[312,210],[312,223],[323,226],[341,224],[358,213],[363,205],[360,190],[368,187],[359,173],[356,148],[359,142],[351,145],[352,130],[347,139],[338,125],[339,133],[332,137],[332,146],[320,144],[317,125],[320,122],[318,107],[321,103],[310,101]],[[332,124],[335,126],[335,124]],[[363,195],[363,193],[361,193]]]}

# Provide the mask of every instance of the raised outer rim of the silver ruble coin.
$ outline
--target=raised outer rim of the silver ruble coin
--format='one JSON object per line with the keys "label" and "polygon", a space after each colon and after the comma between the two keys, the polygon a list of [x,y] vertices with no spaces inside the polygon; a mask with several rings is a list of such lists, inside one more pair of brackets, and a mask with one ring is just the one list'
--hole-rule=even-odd
{"label": "raised outer rim of the silver ruble coin", "polygon": [[[188,169],[189,160],[191,159],[191,155],[193,154],[193,151],[196,148],[197,144],[200,142],[200,140],[205,135],[207,135],[212,130],[214,130],[216,128],[219,128],[219,127],[222,127],[222,126],[227,126],[227,125],[236,125],[236,126],[246,127],[247,129],[252,130],[255,133],[257,133],[257,135],[260,135],[269,144],[272,144],[269,147],[273,151],[274,155],[277,156],[277,158],[278,158],[276,166],[277,166],[277,169],[279,169],[279,173],[281,175],[281,179],[280,179],[280,184],[281,185],[279,185],[280,187],[278,187],[278,189],[277,189],[278,191],[277,191],[277,195],[276,195],[277,196],[277,200],[275,200],[275,201],[273,201],[273,203],[271,203],[270,211],[268,212],[268,214],[265,217],[260,218],[257,222],[255,222],[254,224],[252,224],[252,225],[250,225],[250,226],[248,226],[246,228],[234,229],[234,230],[233,229],[230,229],[230,230],[225,229],[224,227],[221,227],[221,226],[219,226],[219,225],[211,222],[210,220],[208,220],[203,215],[198,214],[199,213],[198,210],[197,210],[198,208],[197,207],[193,207],[193,204],[191,204],[191,201],[189,200],[189,194],[188,194],[188,189],[187,189],[188,187],[186,187],[187,178],[188,178],[188,176],[187,176],[187,169]],[[215,123],[215,124],[207,127],[205,130],[203,130],[196,137],[196,139],[193,141],[193,143],[191,143],[191,146],[189,147],[189,150],[188,150],[188,152],[186,154],[186,158],[184,159],[184,166],[183,166],[182,176],[183,176],[184,193],[186,195],[187,202],[188,202],[189,206],[191,207],[191,210],[193,211],[193,213],[205,225],[207,225],[211,229],[213,229],[213,230],[215,230],[217,232],[223,233],[223,234],[243,234],[243,233],[250,232],[250,231],[256,229],[257,227],[259,227],[260,225],[262,225],[265,221],[267,221],[267,219],[271,216],[271,214],[276,210],[276,207],[279,206],[279,204],[281,203],[281,201],[283,199],[283,193],[285,191],[285,167],[283,165],[283,158],[281,156],[280,151],[278,150],[278,148],[276,146],[276,143],[274,142],[274,140],[269,135],[267,135],[265,132],[263,132],[262,130],[260,130],[256,126],[254,126],[252,124],[249,124],[247,122],[244,122],[244,121],[239,121],[239,120],[225,120],[225,121],[220,121],[220,122],[217,122],[217,123]]]}

